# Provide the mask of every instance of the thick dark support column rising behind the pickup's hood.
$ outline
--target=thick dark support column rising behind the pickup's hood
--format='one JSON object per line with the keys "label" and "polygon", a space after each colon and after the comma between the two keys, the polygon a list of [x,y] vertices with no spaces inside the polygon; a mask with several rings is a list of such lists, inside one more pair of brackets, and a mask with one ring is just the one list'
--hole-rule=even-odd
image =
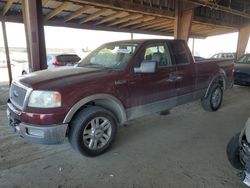
{"label": "thick dark support column rising behind the pickup's hood", "polygon": [[27,51],[31,71],[47,68],[41,0],[22,0]]}

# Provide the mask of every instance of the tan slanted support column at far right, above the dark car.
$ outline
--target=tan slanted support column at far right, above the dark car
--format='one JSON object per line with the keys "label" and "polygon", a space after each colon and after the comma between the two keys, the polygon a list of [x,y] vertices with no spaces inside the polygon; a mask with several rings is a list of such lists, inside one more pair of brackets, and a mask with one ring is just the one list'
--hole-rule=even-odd
{"label": "tan slanted support column at far right, above the dark car", "polygon": [[236,59],[239,59],[246,51],[250,35],[250,25],[244,26],[239,30]]}

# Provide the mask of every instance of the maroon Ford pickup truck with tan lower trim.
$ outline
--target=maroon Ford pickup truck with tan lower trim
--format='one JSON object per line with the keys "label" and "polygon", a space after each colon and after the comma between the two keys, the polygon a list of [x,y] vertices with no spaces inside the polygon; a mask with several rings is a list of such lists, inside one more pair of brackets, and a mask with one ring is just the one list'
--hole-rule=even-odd
{"label": "maroon Ford pickup truck with tan lower trim", "polygon": [[194,63],[184,41],[119,41],[75,67],[13,81],[7,115],[26,140],[56,144],[68,137],[81,154],[96,156],[111,146],[117,125],[197,99],[216,111],[232,84],[230,60]]}

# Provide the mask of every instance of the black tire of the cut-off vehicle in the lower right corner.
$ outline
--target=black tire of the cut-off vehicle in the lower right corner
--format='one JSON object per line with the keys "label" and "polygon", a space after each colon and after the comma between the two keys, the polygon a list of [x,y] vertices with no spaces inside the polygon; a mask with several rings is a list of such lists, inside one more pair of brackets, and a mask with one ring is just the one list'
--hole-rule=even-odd
{"label": "black tire of the cut-off vehicle in the lower right corner", "polygon": [[240,161],[240,147],[239,147],[239,135],[240,133],[236,134],[227,144],[227,158],[230,164],[238,169],[244,170],[244,166]]}

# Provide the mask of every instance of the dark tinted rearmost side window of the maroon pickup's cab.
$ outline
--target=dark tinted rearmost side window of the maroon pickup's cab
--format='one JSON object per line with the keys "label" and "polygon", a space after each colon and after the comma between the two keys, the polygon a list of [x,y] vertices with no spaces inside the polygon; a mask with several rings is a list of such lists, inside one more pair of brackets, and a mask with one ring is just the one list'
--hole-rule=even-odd
{"label": "dark tinted rearmost side window of the maroon pickup's cab", "polygon": [[189,64],[189,56],[186,51],[186,46],[182,41],[169,42],[170,49],[172,50],[175,63],[177,65]]}

